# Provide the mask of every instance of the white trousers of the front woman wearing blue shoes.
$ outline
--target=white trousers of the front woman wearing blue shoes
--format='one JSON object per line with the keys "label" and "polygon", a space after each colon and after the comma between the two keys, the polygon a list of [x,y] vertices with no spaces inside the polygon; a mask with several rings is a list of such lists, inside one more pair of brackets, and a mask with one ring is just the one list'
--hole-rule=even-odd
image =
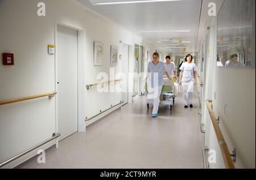
{"label": "white trousers of the front woman wearing blue shoes", "polygon": [[158,107],[160,103],[160,94],[162,91],[163,86],[157,86],[151,88],[151,91],[148,93],[148,103],[153,104],[153,111],[152,114],[158,113]]}

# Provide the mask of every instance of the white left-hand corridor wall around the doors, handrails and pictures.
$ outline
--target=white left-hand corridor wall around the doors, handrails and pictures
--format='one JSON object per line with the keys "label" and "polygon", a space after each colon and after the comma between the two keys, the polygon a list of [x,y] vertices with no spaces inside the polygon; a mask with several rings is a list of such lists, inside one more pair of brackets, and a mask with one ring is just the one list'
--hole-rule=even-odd
{"label": "white left-hand corridor wall around the doors, handrails and pictures", "polygon": [[[97,93],[89,91],[85,84],[98,82],[98,72],[110,68],[110,45],[120,48],[119,41],[131,45],[130,72],[133,72],[133,45],[137,43],[154,53],[158,46],[118,27],[100,15],[88,14],[88,8],[72,0],[44,0],[46,16],[37,15],[37,1],[0,1],[0,53],[14,53],[15,65],[0,65],[0,101],[17,97],[55,91],[55,57],[47,54],[47,45],[55,42],[55,21],[83,29],[86,32],[84,56],[84,112],[91,117],[118,104],[121,93]],[[86,12],[87,11],[87,12]],[[89,10],[92,12],[92,10]],[[10,13],[11,12],[11,13]],[[94,14],[96,14],[94,12]],[[93,66],[93,42],[104,43],[104,66]],[[168,54],[168,52],[164,52]],[[1,57],[2,61],[2,57]],[[121,71],[121,63],[114,66]],[[132,84],[132,83],[130,83]],[[55,132],[55,98],[40,98],[16,104],[0,106],[0,162],[51,138]],[[85,117],[84,117],[85,118]],[[49,143],[45,147],[53,144]],[[35,155],[35,152],[6,166],[14,167],[19,162]]]}

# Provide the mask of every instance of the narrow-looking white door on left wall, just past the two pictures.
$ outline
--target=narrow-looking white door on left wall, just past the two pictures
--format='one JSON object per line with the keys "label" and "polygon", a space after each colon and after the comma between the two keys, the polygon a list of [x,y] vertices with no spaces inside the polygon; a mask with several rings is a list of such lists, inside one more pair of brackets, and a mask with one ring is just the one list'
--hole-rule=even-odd
{"label": "narrow-looking white door on left wall, just past the two pictures", "polygon": [[129,82],[129,45],[123,44],[123,52],[122,52],[122,72],[126,75],[126,81],[122,83],[126,83],[123,85],[125,87],[126,92],[122,93],[122,101],[124,104],[128,102],[128,82]]}

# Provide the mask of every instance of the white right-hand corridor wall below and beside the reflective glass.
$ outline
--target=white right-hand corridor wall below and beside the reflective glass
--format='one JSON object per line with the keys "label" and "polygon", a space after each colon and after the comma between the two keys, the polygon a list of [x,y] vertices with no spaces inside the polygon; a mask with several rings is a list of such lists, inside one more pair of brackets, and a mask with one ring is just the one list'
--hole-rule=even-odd
{"label": "white right-hand corridor wall below and beside the reflective glass", "polygon": [[[213,64],[213,78],[211,81],[209,77],[212,71],[208,69],[207,79],[204,82],[206,86],[212,85],[212,95],[209,96],[206,93],[205,98],[211,97],[213,100],[213,111],[216,117],[220,117],[219,126],[230,153],[236,148],[237,160],[234,164],[236,168],[255,168],[255,68],[217,67],[216,58],[214,58],[217,57],[217,38],[216,33],[215,35],[211,33],[210,39],[214,38],[214,49],[210,49],[214,53],[210,53],[208,59],[208,64]],[[253,49],[255,49],[255,43]],[[255,57],[255,51],[253,57]],[[228,105],[226,114],[224,113],[225,105]],[[205,102],[202,102],[202,106],[205,106]],[[225,168],[220,145],[207,110],[203,112],[202,117],[208,125],[210,122],[206,132],[209,135],[209,142],[205,143],[209,144],[209,149],[214,149],[217,153],[217,162],[210,164],[210,168]]]}

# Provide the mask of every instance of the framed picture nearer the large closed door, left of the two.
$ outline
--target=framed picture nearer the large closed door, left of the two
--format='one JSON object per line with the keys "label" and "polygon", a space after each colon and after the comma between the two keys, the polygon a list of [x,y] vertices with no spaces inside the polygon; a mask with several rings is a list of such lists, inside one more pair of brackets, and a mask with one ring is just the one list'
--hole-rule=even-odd
{"label": "framed picture nearer the large closed door, left of the two", "polygon": [[102,66],[104,62],[104,44],[94,41],[93,65]]}

